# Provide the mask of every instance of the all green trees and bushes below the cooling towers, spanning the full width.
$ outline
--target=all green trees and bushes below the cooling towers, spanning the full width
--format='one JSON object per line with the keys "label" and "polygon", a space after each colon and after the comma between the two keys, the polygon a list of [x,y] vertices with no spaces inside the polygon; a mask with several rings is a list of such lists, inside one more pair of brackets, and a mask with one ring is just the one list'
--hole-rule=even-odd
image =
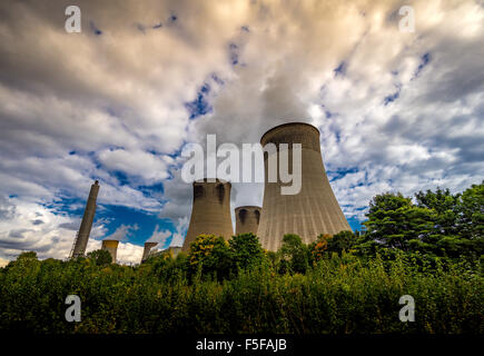
{"label": "all green trees and bushes below the cooling towers, spanning the full width", "polygon": [[[0,330],[483,333],[483,192],[379,195],[366,231],[309,245],[286,235],[276,253],[253,234],[201,235],[188,254],[134,267],[102,251],[23,253],[0,269]],[[80,297],[80,323],[65,318],[68,295]],[[413,323],[398,318],[403,295],[415,299]]]}

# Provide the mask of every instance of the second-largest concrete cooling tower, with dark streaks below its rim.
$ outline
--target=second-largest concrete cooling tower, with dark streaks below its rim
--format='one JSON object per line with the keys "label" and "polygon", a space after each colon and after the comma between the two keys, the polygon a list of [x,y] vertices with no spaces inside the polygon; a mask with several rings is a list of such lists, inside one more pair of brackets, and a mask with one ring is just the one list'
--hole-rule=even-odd
{"label": "second-largest concrete cooling tower, with dark streaks below its rim", "polygon": [[230,182],[221,179],[213,182],[207,179],[194,181],[191,218],[182,251],[188,251],[190,244],[200,234],[224,236],[226,239],[233,236],[230,188]]}

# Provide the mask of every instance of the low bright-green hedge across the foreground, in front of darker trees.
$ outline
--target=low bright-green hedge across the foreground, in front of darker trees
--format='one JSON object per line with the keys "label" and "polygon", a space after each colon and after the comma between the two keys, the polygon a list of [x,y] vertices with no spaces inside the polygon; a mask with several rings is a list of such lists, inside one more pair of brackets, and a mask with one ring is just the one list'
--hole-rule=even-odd
{"label": "low bright-green hedge across the foreground, in front of darker trees", "polygon": [[[403,253],[373,259],[334,253],[305,275],[279,275],[263,260],[231,279],[190,284],[187,278],[168,277],[187,256],[177,259],[168,255],[164,266],[151,261],[138,267],[101,267],[89,259],[19,258],[0,269],[0,330],[484,332],[484,280],[478,267],[467,261],[417,266],[413,257]],[[80,323],[65,320],[65,299],[69,294],[81,299]],[[415,299],[414,323],[398,319],[402,295]]]}

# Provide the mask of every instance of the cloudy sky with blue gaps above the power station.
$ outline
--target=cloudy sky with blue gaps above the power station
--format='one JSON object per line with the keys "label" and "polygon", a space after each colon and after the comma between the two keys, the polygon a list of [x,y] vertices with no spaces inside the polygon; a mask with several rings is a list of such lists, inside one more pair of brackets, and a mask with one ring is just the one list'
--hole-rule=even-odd
{"label": "cloudy sky with blue gaps above the power station", "polygon": [[[258,142],[275,125],[320,130],[353,228],[369,199],[484,177],[484,2],[71,1],[0,3],[0,263],[66,258],[95,179],[88,250],[182,241],[188,142]],[[401,31],[402,6],[415,31]],[[235,184],[233,208],[260,205]]]}

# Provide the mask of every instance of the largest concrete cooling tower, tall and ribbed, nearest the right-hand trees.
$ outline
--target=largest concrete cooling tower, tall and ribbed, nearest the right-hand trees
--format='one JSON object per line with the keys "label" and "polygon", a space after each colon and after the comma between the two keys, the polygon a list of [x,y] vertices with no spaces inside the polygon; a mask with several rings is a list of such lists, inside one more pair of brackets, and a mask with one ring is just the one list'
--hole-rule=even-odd
{"label": "largest concrete cooling tower, tall and ribbed, nearest the right-hand trees", "polygon": [[[281,195],[279,174],[276,182],[268,182],[268,161],[265,154],[266,182],[263,211],[258,228],[260,244],[267,250],[277,250],[285,234],[297,234],[303,243],[314,241],[319,234],[337,234],[350,230],[336,200],[323,166],[319,147],[319,130],[312,125],[292,122],[268,130],[260,139],[261,146],[273,142],[289,144],[288,156],[293,157],[292,144],[302,144],[302,188],[297,195]],[[273,154],[275,155],[275,154]],[[289,159],[289,171],[293,161]]]}

